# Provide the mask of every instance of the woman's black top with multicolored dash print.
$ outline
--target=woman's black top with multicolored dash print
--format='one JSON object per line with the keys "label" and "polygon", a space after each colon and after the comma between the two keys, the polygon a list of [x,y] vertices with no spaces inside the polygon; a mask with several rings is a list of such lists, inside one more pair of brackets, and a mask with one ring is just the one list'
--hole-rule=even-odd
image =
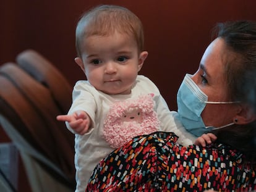
{"label": "woman's black top with multicolored dash print", "polygon": [[174,133],[137,136],[93,170],[85,191],[254,191],[255,164],[241,152],[214,144],[176,144]]}

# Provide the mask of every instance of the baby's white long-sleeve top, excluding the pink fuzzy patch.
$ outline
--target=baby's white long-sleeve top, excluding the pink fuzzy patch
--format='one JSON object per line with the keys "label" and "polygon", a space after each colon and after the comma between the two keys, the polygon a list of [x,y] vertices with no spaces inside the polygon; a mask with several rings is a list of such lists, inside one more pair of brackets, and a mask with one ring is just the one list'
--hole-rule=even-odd
{"label": "baby's white long-sleeve top, excluding the pink fuzzy patch", "polygon": [[[75,169],[76,192],[85,191],[92,170],[101,159],[114,150],[103,138],[103,123],[109,112],[109,107],[117,101],[135,99],[142,94],[152,94],[155,103],[154,110],[160,120],[158,131],[171,131],[179,136],[179,143],[192,144],[195,136],[187,132],[176,119],[176,112],[170,112],[166,101],[160,94],[156,85],[143,75],[138,75],[130,94],[106,94],[96,90],[88,81],[80,80],[74,86],[72,106],[68,114],[82,110],[87,112],[92,120],[92,126],[85,135],[75,134]],[[66,123],[67,128],[74,130]]]}

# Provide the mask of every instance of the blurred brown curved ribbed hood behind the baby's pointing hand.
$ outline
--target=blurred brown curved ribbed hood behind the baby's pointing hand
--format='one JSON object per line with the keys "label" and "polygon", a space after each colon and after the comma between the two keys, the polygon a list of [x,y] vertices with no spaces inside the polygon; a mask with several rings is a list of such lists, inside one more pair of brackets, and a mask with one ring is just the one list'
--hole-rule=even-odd
{"label": "blurred brown curved ribbed hood behind the baby's pointing hand", "polygon": [[74,188],[74,135],[56,120],[56,115],[69,109],[71,94],[63,75],[33,50],[19,54],[17,64],[0,67],[0,114],[65,177],[39,157],[36,161],[59,182]]}

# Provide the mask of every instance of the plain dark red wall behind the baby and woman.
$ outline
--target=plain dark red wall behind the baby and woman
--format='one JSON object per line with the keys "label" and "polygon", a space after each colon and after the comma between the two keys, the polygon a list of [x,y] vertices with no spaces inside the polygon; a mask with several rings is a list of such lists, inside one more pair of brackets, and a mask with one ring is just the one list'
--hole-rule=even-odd
{"label": "plain dark red wall behind the baby and woman", "polygon": [[[149,56],[140,73],[156,83],[171,110],[177,109],[176,93],[185,73],[197,70],[215,23],[256,20],[254,0],[1,0],[0,65],[35,49],[70,84],[84,79],[74,62],[75,26],[85,10],[98,4],[125,6],[142,20]],[[0,142],[6,141],[0,134]]]}

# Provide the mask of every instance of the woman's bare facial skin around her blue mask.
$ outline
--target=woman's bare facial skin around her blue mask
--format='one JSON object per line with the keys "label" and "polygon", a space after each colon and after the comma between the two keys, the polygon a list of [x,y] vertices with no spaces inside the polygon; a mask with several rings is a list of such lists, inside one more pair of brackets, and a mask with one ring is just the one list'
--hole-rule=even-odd
{"label": "woman's bare facial skin around her blue mask", "polygon": [[[224,40],[217,38],[205,50],[199,69],[192,76],[208,101],[229,101],[224,72],[228,56]],[[236,104],[207,104],[201,116],[206,126],[221,127],[232,123],[236,112]]]}

